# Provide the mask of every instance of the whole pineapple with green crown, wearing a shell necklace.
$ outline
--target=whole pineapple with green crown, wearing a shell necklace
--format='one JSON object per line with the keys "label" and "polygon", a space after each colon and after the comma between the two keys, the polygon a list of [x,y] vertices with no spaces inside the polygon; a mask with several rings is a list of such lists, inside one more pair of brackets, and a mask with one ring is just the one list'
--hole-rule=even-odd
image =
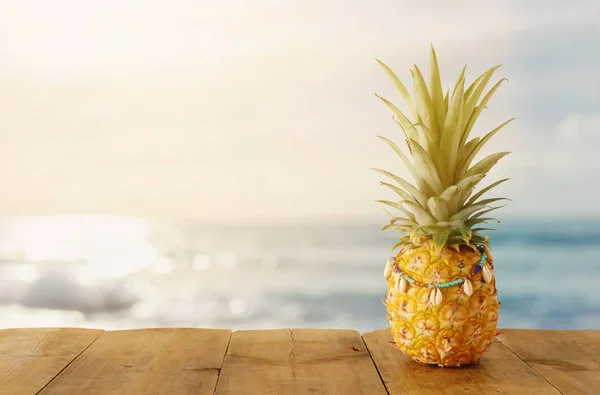
{"label": "whole pineapple with green crown, wearing a shell necklace", "polygon": [[399,211],[394,215],[386,210],[391,220],[383,229],[402,234],[393,247],[400,250],[384,271],[390,330],[398,348],[419,363],[475,363],[492,344],[500,307],[489,237],[482,233],[493,229],[482,224],[499,222],[486,214],[504,207],[497,202],[510,199],[482,199],[508,179],[495,181],[477,193],[474,190],[509,152],[473,161],[483,145],[514,118],[483,137],[469,139],[469,135],[505,79],[484,94],[499,66],[469,86],[465,85],[465,66],[452,92],[444,94],[432,46],[429,84],[416,65],[411,70],[413,100],[392,70],[377,62],[408,105],[405,115],[376,95],[393,111],[403,130],[407,154],[391,140],[378,137],[400,156],[414,179],[412,184],[385,170],[373,169],[390,180],[381,185],[399,195],[396,201],[378,200]]}

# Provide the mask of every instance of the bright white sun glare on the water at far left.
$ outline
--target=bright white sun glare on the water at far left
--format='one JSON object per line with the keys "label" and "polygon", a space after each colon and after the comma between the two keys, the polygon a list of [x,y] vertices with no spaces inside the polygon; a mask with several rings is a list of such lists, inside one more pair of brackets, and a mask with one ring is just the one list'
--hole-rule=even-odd
{"label": "bright white sun glare on the water at far left", "polygon": [[[90,284],[102,278],[123,278],[146,268],[169,272],[170,262],[159,258],[149,243],[147,221],[108,217],[44,217],[17,221],[8,229],[11,249],[29,262],[77,262],[78,280]],[[162,259],[162,260],[161,260]],[[28,270],[28,271],[27,271]],[[33,281],[35,268],[18,275]]]}

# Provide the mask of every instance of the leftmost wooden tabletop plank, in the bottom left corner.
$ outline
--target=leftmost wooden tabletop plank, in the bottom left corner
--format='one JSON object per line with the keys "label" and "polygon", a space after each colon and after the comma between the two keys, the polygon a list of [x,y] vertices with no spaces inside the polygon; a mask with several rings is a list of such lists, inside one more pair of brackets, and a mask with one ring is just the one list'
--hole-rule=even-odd
{"label": "leftmost wooden tabletop plank, in the bottom left corner", "polygon": [[0,330],[0,393],[37,394],[102,332],[74,328]]}

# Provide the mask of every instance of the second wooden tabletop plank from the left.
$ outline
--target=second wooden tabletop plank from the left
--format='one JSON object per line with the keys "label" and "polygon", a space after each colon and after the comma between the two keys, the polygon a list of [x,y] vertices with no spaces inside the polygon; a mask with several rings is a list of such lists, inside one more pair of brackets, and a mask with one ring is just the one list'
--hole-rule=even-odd
{"label": "second wooden tabletop plank from the left", "polygon": [[229,330],[105,332],[42,392],[86,395],[212,395]]}

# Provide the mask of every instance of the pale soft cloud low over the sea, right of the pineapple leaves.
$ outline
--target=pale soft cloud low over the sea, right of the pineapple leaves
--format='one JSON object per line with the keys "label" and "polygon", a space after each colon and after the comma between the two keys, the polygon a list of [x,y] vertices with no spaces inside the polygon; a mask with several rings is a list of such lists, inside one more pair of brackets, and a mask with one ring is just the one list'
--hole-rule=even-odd
{"label": "pale soft cloud low over the sea, right of the pineapple leaves", "polygon": [[[545,134],[530,135],[506,168],[504,191],[515,215],[598,215],[600,113],[568,114]],[[536,143],[539,141],[539,143]]]}

